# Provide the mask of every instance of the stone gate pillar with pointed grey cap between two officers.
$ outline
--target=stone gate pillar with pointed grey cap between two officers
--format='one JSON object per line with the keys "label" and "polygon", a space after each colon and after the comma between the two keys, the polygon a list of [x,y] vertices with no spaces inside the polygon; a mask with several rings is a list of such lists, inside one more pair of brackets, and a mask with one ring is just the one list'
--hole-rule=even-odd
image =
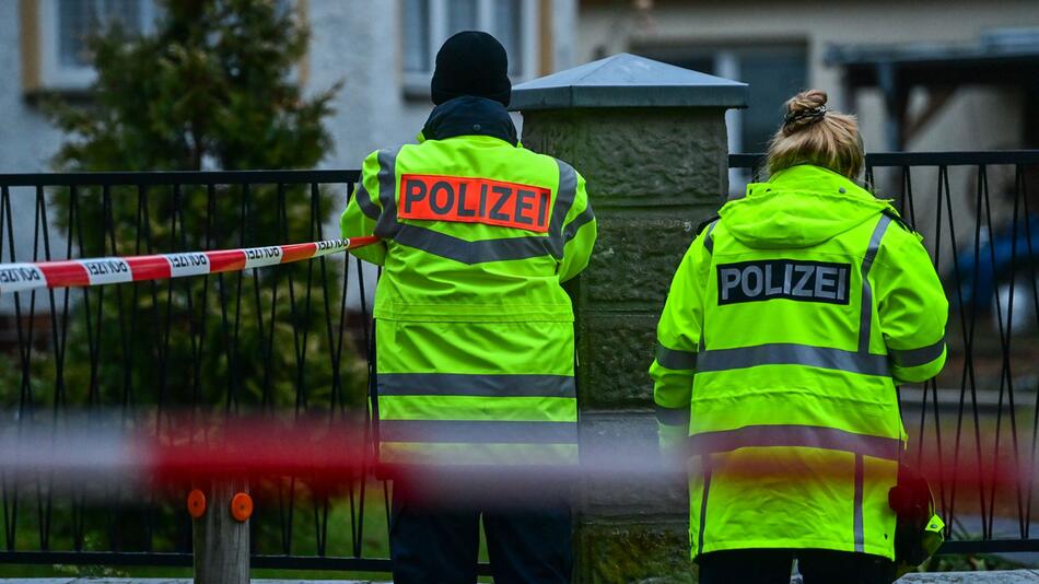
{"label": "stone gate pillar with pointed grey cap between two officers", "polygon": [[[724,114],[746,100],[743,83],[627,54],[513,90],[524,145],[581,172],[598,218],[592,261],[570,287],[584,454],[655,446],[656,320],[696,226],[725,200]],[[575,582],[689,577],[685,486],[643,482],[583,489]]]}

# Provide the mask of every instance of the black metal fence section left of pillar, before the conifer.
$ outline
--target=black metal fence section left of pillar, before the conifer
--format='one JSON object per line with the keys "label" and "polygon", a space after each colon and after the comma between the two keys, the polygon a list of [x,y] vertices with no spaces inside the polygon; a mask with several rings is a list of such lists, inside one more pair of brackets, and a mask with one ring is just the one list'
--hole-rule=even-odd
{"label": "black metal fence section left of pillar, before the conifer", "polygon": [[[0,261],[338,237],[357,171],[0,176]],[[331,229],[331,233],[326,231]],[[70,417],[167,440],[175,417],[275,416],[367,428],[374,273],[360,261],[0,296],[0,440]],[[0,562],[190,565],[187,487],[0,476]],[[250,486],[253,567],[388,571],[385,484]],[[90,497],[87,497],[87,492]],[[101,492],[103,497],[98,498]]]}

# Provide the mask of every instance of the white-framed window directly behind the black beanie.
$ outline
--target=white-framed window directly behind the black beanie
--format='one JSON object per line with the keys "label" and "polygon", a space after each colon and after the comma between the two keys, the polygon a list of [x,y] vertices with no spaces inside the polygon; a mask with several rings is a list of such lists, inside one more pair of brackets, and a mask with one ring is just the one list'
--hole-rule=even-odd
{"label": "white-framed window directly behind the black beanie", "polygon": [[436,50],[460,31],[487,31],[509,52],[513,83],[534,77],[537,63],[536,0],[404,0],[405,92],[428,96]]}

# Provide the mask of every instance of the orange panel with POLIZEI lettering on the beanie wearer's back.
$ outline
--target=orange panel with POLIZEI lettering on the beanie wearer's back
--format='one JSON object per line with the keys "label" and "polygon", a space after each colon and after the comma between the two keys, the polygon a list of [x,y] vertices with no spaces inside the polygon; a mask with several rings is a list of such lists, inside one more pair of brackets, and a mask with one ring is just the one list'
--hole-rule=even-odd
{"label": "orange panel with POLIZEI lettering on the beanie wearer's back", "polygon": [[548,231],[552,190],[489,178],[406,174],[397,217]]}

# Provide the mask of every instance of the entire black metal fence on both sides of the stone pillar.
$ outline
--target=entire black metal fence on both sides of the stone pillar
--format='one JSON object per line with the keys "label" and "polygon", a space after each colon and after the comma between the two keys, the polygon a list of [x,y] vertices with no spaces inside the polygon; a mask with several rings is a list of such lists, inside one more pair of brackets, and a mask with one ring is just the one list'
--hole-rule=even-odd
{"label": "entire black metal fence on both sides of the stone pillar", "polygon": [[[729,165],[760,162],[735,154]],[[357,171],[0,175],[0,261],[326,238],[357,180]],[[1031,476],[1039,444],[1037,180],[1039,151],[867,157],[867,182],[924,235],[952,303],[945,372],[901,390],[917,455],[943,463],[947,552],[1039,551],[1032,481],[999,480],[1008,468]],[[82,411],[160,439],[183,411],[289,410],[367,428],[375,276],[322,258],[0,295],[0,440]],[[982,469],[967,487],[956,480],[966,468]],[[0,562],[190,565],[185,492],[141,501],[115,479],[68,492],[45,472],[0,476]],[[358,477],[330,495],[287,477],[254,497],[254,568],[388,570],[381,481]]]}

